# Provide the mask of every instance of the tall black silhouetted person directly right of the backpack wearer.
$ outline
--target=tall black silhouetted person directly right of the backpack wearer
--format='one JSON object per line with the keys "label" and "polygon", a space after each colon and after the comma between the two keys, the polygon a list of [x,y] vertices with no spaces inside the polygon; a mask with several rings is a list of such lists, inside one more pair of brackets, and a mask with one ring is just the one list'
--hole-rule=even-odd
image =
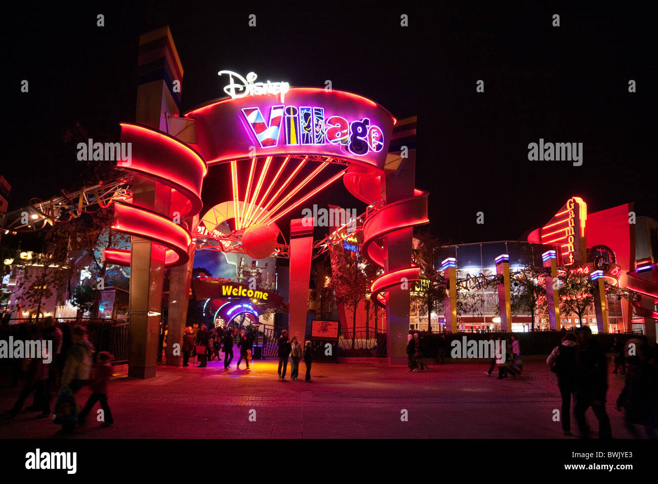
{"label": "tall black silhouetted person directly right of the backpack wearer", "polygon": [[610,419],[605,413],[605,394],[608,390],[605,353],[599,342],[592,336],[589,326],[578,329],[578,343],[574,416],[578,422],[580,438],[589,438],[585,412],[591,406],[594,415],[599,419],[599,439],[612,439]]}

